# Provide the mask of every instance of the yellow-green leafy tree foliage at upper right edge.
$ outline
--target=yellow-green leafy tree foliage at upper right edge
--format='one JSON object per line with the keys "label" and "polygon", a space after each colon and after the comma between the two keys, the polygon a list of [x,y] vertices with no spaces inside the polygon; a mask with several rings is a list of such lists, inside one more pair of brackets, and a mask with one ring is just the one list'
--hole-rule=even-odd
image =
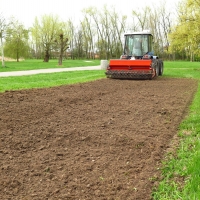
{"label": "yellow-green leafy tree foliage at upper right edge", "polygon": [[200,56],[200,1],[186,0],[179,6],[179,22],[172,29],[170,37],[170,51],[181,52],[190,61],[195,55]]}

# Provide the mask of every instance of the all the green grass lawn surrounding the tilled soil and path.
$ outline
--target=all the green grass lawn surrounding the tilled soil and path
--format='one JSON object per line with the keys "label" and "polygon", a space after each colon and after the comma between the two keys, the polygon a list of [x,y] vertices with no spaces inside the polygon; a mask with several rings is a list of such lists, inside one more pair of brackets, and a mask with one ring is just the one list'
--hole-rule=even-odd
{"label": "all the green grass lawn surrounding the tilled soil and path", "polygon": [[[65,60],[62,67],[100,65],[99,60],[85,62]],[[43,63],[42,60],[6,62],[3,71],[57,68],[57,60]],[[0,78],[0,92],[28,88],[53,87],[105,78],[104,70],[61,72],[22,77]],[[200,81],[199,62],[164,62],[164,77],[192,78]],[[153,80],[152,80],[153,81]],[[163,160],[163,180],[153,192],[154,200],[199,200],[200,199],[200,83],[190,106],[188,117],[180,124],[180,146],[175,155],[166,155]],[[181,180],[178,181],[178,180]]]}

